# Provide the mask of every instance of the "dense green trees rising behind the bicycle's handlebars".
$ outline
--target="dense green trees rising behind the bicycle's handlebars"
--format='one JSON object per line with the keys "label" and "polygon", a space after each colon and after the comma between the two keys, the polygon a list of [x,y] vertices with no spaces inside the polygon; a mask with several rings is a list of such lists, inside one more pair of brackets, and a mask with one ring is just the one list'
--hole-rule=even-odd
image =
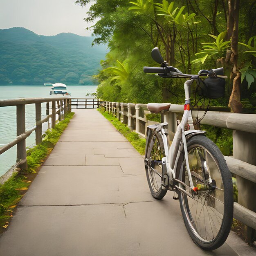
{"label": "dense green trees rising behind the bicycle's handlebars", "polygon": [[[76,3],[83,6],[89,2],[77,0]],[[241,42],[247,42],[252,37],[254,23],[248,17],[248,10],[252,6],[251,0],[240,4],[238,39]],[[230,46],[226,32],[227,11],[226,2],[213,0],[95,0],[89,6],[85,20],[96,22],[92,27],[94,43],[108,43],[110,50],[106,60],[101,62],[99,74],[94,76],[100,84],[98,97],[114,102],[183,103],[183,79],[162,79],[144,74],[144,66],[158,66],[150,56],[151,49],[157,46],[170,65],[187,74],[225,65],[224,57]],[[206,35],[210,35],[212,41],[207,40],[209,37]],[[252,45],[253,40],[249,44]],[[197,59],[193,61],[195,54]],[[248,62],[247,56],[248,53],[243,56],[239,52],[238,67]],[[113,74],[109,67],[117,67],[117,60],[120,63],[125,61],[129,67],[123,81],[112,80],[113,76],[119,75]],[[255,65],[254,61],[252,64]],[[228,62],[225,74],[229,76],[230,71]],[[227,106],[232,89],[229,83],[227,79],[225,100],[214,101],[218,106]],[[254,104],[248,96],[252,94],[254,85],[250,86],[248,92],[245,87],[241,89],[242,97]]]}

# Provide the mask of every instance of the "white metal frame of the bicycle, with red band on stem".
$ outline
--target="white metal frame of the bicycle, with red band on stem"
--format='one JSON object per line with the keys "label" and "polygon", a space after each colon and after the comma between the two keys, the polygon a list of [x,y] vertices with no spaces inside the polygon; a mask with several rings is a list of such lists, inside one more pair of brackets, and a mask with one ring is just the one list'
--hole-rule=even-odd
{"label": "white metal frame of the bicycle, with red band on stem", "polygon": [[[167,174],[169,176],[169,183],[171,186],[173,186],[173,181],[181,183],[183,186],[186,187],[186,190],[181,189],[179,186],[175,185],[176,189],[181,190],[183,193],[186,193],[186,195],[189,195],[190,197],[193,197],[193,193],[189,193],[189,191],[193,190],[193,181],[191,176],[191,171],[189,169],[189,159],[188,159],[188,151],[186,146],[186,136],[188,135],[196,135],[196,134],[204,134],[205,131],[200,130],[189,130],[185,131],[185,126],[188,124],[188,122],[191,125],[191,128],[193,127],[193,119],[191,115],[191,110],[189,108],[190,104],[190,85],[193,83],[194,79],[187,80],[184,83],[184,90],[185,90],[185,104],[184,104],[184,114],[182,116],[182,120],[180,124],[177,126],[177,131],[175,132],[173,142],[171,144],[170,149],[168,150],[168,140],[164,133],[164,129],[161,129],[160,135],[164,142],[164,150],[166,152],[167,157],[163,157],[162,162],[166,163],[167,168]],[[181,151],[184,148],[184,157],[186,161],[187,166],[187,172],[189,176],[189,183],[190,187],[184,184],[182,181],[178,180],[176,177],[177,173],[177,162],[180,157]]]}

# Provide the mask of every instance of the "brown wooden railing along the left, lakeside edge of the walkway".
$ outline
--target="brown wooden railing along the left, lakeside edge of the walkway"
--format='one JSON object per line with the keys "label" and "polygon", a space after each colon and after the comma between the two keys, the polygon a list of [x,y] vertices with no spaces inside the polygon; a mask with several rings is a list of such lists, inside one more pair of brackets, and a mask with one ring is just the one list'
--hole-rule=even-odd
{"label": "brown wooden railing along the left, lakeside edge of the walkway", "polygon": [[[42,103],[46,103],[46,117],[42,119]],[[51,113],[49,114],[49,103],[51,104]],[[26,117],[25,117],[25,105],[35,104],[36,120],[35,126],[30,130],[26,130]],[[67,97],[58,98],[26,98],[26,99],[8,99],[0,101],[0,107],[16,106],[16,127],[17,137],[8,144],[0,148],[0,154],[4,153],[8,149],[17,145],[17,159],[13,168],[20,167],[27,168],[27,154],[26,154],[26,138],[31,135],[32,132],[36,133],[36,144],[42,142],[42,124],[48,122],[51,119],[52,128],[56,124],[56,115],[58,115],[58,121],[64,119],[66,112],[71,111],[71,99]]]}

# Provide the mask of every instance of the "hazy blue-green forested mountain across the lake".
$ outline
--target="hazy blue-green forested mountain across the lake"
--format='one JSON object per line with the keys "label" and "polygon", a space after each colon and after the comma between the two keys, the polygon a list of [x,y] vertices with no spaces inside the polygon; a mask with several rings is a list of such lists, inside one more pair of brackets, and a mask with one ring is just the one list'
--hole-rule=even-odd
{"label": "hazy blue-green forested mountain across the lake", "polygon": [[0,29],[0,84],[92,84],[106,46],[92,37],[61,33],[40,36],[22,28]]}

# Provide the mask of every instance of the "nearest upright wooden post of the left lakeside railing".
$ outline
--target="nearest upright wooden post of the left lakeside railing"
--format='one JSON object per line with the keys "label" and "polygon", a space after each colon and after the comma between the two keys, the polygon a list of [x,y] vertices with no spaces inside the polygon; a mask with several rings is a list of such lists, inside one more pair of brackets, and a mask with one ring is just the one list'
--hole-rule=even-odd
{"label": "nearest upright wooden post of the left lakeside railing", "polygon": [[[26,131],[25,121],[25,105],[17,105],[16,107],[17,117],[17,137]],[[19,167],[27,169],[27,153],[26,153],[26,139],[17,143],[17,162],[24,160]]]}

